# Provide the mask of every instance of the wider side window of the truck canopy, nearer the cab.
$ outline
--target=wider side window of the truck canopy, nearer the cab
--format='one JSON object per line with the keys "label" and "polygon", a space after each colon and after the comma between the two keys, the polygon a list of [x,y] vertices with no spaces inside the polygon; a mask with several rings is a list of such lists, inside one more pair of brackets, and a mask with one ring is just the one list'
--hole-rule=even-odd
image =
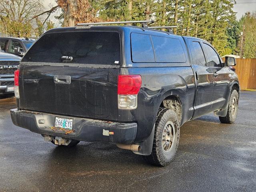
{"label": "wider side window of the truck canopy, nearer the cab", "polygon": [[156,62],[186,62],[186,56],[180,40],[152,36]]}

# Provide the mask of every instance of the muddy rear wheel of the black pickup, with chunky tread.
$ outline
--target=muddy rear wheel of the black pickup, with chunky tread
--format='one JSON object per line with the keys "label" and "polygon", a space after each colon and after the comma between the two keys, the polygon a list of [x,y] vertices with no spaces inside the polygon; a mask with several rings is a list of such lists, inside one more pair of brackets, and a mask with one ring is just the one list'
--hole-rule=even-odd
{"label": "muddy rear wheel of the black pickup, with chunky tread", "polygon": [[143,156],[146,162],[166,166],[174,157],[179,144],[180,123],[172,109],[159,108],[155,123],[152,152]]}

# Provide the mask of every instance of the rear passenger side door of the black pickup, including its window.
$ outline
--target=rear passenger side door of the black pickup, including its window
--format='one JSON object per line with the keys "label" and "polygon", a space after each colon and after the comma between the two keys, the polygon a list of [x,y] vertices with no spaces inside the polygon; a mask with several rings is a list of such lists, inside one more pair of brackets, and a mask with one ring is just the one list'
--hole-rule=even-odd
{"label": "rear passenger side door of the black pickup, including its window", "polygon": [[212,69],[207,66],[202,44],[197,39],[188,39],[193,67],[196,72],[196,95],[194,115],[197,118],[211,112],[214,76]]}

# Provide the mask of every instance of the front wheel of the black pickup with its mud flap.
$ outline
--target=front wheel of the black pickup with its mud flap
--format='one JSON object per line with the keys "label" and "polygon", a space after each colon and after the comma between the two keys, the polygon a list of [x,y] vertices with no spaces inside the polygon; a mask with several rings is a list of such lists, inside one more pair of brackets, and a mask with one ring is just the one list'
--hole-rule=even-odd
{"label": "front wheel of the black pickup with its mud flap", "polygon": [[239,95],[237,90],[231,90],[230,98],[228,101],[228,112],[225,117],[219,116],[220,122],[232,124],[236,120],[238,110]]}

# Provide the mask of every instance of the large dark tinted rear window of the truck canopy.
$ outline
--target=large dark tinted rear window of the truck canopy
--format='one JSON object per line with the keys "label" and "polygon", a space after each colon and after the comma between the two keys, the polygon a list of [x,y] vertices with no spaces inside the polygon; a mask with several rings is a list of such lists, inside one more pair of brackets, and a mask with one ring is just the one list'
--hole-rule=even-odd
{"label": "large dark tinted rear window of the truck canopy", "polygon": [[[64,59],[64,56],[68,56]],[[72,59],[70,59],[70,56]],[[71,61],[70,61],[71,60]],[[117,65],[121,61],[117,32],[62,32],[43,35],[22,62]]]}

